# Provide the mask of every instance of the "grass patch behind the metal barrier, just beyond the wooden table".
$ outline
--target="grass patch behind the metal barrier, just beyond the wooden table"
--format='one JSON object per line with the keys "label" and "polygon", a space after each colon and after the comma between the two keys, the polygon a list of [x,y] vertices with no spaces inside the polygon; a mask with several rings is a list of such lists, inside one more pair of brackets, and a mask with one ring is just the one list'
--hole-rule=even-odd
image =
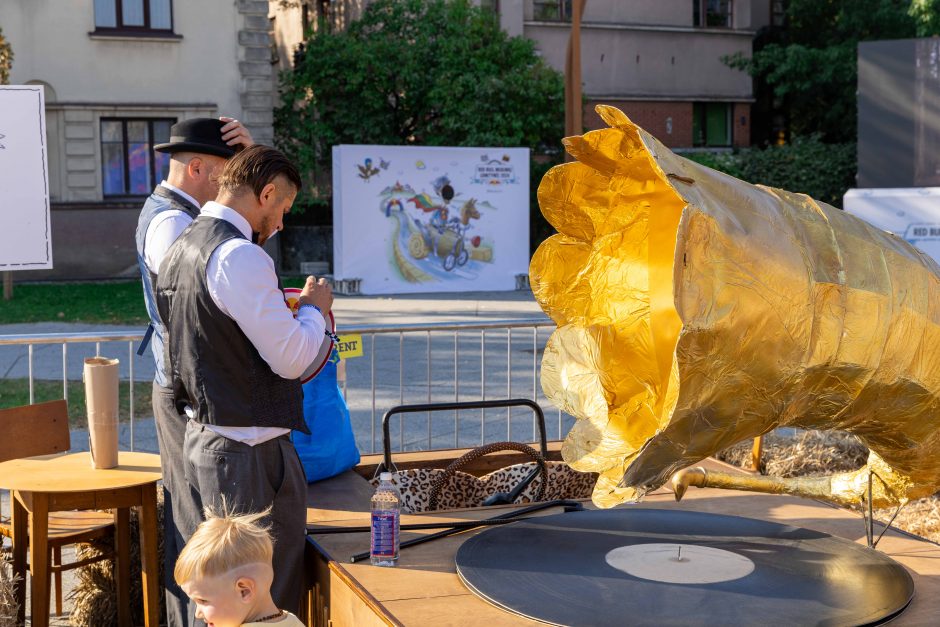
{"label": "grass patch behind the metal barrier, just beyond the wooden table", "polygon": [[[81,381],[69,381],[69,426],[72,428],[88,428],[88,418],[85,413],[85,384]],[[134,419],[149,418],[153,416],[150,396],[153,383],[137,382],[134,384]],[[33,380],[33,395],[37,403],[54,401],[62,398],[62,381],[49,381],[46,379]],[[118,387],[118,412],[121,422],[130,420],[130,405],[128,397],[130,386],[122,381]],[[29,379],[0,379],[0,409],[29,405]]]}

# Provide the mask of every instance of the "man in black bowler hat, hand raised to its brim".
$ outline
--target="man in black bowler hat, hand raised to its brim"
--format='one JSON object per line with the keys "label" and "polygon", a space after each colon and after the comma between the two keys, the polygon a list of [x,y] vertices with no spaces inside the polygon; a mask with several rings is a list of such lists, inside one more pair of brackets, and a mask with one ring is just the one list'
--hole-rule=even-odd
{"label": "man in black bowler hat, hand raised to its brim", "polygon": [[[153,413],[160,446],[160,461],[164,489],[164,585],[166,586],[167,623],[182,627],[192,621],[193,611],[189,598],[176,585],[173,567],[185,544],[176,520],[191,508],[180,505],[188,499],[186,478],[172,460],[182,458],[186,417],[180,416],[174,406],[169,376],[164,367],[164,340],[166,330],[160,321],[154,299],[154,286],[160,264],[176,238],[199,215],[205,203],[218,193],[218,174],[222,166],[236,152],[251,146],[251,134],[233,118],[192,118],[174,124],[170,141],[157,144],[154,150],[169,153],[170,170],[165,181],[154,189],[144,203],[137,222],[137,262],[144,287],[144,302],[150,314],[150,325],[138,349],[142,355],[151,344],[155,362],[153,382]],[[192,521],[193,527],[198,520]]]}

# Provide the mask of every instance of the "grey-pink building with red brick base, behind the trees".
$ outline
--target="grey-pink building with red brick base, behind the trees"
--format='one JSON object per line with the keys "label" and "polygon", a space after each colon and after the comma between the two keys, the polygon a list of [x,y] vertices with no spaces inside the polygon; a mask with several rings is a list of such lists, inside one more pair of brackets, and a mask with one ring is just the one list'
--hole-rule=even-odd
{"label": "grey-pink building with red brick base, behind the trees", "polygon": [[[564,72],[572,0],[474,0],[499,15],[509,35],[535,41]],[[298,0],[278,9],[283,68],[305,27],[343,28],[368,0]],[[587,0],[581,24],[586,128],[603,122],[597,104],[622,109],[671,148],[731,148],[751,141],[751,77],[723,58],[749,57],[757,31],[783,12],[782,0]],[[273,5],[272,5],[273,6]]]}

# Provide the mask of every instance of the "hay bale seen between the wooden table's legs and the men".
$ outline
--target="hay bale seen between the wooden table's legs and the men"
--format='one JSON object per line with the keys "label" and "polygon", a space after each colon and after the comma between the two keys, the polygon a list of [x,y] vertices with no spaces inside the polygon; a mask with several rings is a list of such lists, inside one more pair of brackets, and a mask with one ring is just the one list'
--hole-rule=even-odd
{"label": "hay bale seen between the wooden table's legs and the men", "polygon": [[[134,625],[144,624],[144,595],[140,580],[140,525],[137,511],[131,510],[130,544],[130,604],[131,621]],[[77,550],[77,559],[97,557],[110,553],[114,549],[113,538],[101,538],[94,542],[81,544]],[[160,621],[166,616],[163,587],[163,490],[157,490],[157,563],[160,565]],[[114,581],[114,562],[102,560],[79,568],[76,571],[77,583],[69,593],[72,610],[69,621],[73,625],[117,625],[118,605],[117,586]]]}

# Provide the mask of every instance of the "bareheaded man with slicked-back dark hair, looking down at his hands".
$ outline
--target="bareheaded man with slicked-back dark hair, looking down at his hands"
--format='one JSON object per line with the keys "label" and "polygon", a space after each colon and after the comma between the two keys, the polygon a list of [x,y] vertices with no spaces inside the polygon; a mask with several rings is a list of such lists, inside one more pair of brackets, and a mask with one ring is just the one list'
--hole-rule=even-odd
{"label": "bareheaded man with slicked-back dark hair, looking down at his hands", "polygon": [[[270,507],[271,593],[297,613],[307,484],[290,432],[307,432],[300,376],[327,337],[333,294],[325,280],[308,277],[295,319],[261,249],[283,228],[301,187],[282,153],[246,148],[218,184],[216,200],[167,252],[155,293],[173,399],[188,417],[182,455],[171,461],[185,473],[193,509],[177,523],[223,500],[240,512]],[[188,539],[195,527],[181,531]]]}

